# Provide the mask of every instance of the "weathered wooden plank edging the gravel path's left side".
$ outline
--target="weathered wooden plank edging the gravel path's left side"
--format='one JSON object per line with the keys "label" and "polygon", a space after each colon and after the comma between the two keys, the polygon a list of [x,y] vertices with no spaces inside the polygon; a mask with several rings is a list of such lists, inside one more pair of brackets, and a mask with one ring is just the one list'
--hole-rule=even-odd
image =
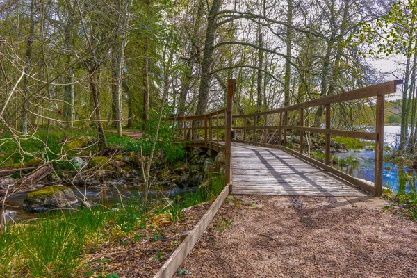
{"label": "weathered wooden plank edging the gravel path's left side", "polygon": [[195,243],[202,236],[208,224],[213,220],[214,215],[218,212],[220,206],[222,206],[224,199],[230,193],[230,184],[224,187],[222,193],[215,199],[213,204],[208,208],[208,211],[204,213],[202,219],[195,225],[190,231],[190,234],[185,240],[179,245],[177,250],[172,253],[170,259],[168,259],[162,266],[162,268],[156,273],[154,278],[171,278],[176,272],[181,263],[183,263],[186,256],[193,250]]}

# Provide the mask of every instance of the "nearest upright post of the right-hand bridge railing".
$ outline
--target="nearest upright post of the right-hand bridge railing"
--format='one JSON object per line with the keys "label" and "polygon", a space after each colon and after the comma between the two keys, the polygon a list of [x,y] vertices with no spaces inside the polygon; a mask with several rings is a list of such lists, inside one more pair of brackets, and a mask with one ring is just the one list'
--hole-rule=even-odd
{"label": "nearest upright post of the right-hand bridge railing", "polygon": [[375,132],[377,140],[375,141],[375,187],[377,188],[375,195],[382,195],[382,170],[384,156],[384,95],[377,96],[377,115]]}

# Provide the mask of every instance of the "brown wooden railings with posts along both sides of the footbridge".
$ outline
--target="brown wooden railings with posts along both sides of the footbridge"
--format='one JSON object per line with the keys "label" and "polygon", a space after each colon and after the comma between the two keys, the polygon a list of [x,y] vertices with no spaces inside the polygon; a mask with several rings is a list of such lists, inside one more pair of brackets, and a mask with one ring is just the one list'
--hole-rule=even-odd
{"label": "brown wooden railings with posts along both sides of the footbridge", "polygon": [[[295,104],[293,106],[287,106],[284,108],[278,108],[270,111],[252,113],[247,115],[231,115],[232,100],[234,91],[236,90],[236,80],[229,79],[227,86],[227,107],[218,111],[208,113],[205,115],[195,115],[186,117],[170,118],[172,121],[177,121],[177,125],[181,126],[181,133],[183,133],[183,139],[193,142],[193,145],[199,145],[200,147],[208,147],[220,152],[220,149],[224,149],[226,155],[226,181],[231,181],[231,130],[232,130],[232,118],[234,119],[234,132],[241,131],[239,136],[241,140],[234,140],[235,142],[245,142],[248,144],[261,145],[265,147],[277,147],[284,149],[295,156],[298,156],[314,165],[318,165],[327,172],[338,175],[342,179],[353,183],[355,186],[359,186],[363,190],[369,193],[380,196],[382,195],[382,170],[383,170],[383,150],[384,150],[384,101],[385,95],[396,92],[396,86],[401,84],[401,80],[389,81],[372,85],[366,88],[352,90],[350,92],[343,92],[338,95],[331,95],[328,97],[322,97],[320,99],[313,99],[301,104]],[[349,131],[341,129],[332,129],[332,104],[339,104],[345,101],[352,101],[358,99],[368,99],[370,97],[376,97],[376,122],[375,132],[366,131]],[[325,128],[316,128],[305,126],[304,124],[304,110],[306,108],[325,106]],[[295,111],[300,113],[299,125],[288,125],[288,114]],[[239,119],[241,119],[239,121]],[[199,124],[199,127],[195,127],[196,121],[203,121],[203,124]],[[252,126],[249,123],[252,122]],[[300,131],[300,151],[295,152],[293,149],[286,147],[286,138],[289,130]],[[222,132],[221,132],[222,131]],[[256,131],[261,131],[261,136],[256,137]],[[268,134],[268,131],[275,131],[273,135]],[[204,133],[199,134],[203,139],[191,139],[191,133]],[[224,132],[224,133],[223,133]],[[322,133],[325,134],[325,163],[305,156],[304,151],[304,133]],[[277,135],[276,135],[277,133]],[[270,144],[268,137],[278,136],[278,144]],[[350,138],[365,139],[375,141],[375,182],[372,185],[367,181],[357,179],[345,174],[330,164],[330,136],[346,136]],[[195,137],[193,137],[195,138]],[[236,136],[235,136],[236,138]]]}

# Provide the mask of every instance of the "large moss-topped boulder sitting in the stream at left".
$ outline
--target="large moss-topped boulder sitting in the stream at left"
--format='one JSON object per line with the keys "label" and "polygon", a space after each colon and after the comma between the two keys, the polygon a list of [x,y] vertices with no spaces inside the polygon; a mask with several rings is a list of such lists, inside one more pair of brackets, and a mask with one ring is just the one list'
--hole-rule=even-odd
{"label": "large moss-topped boulder sitting in the stream at left", "polygon": [[65,208],[78,204],[79,200],[74,195],[71,188],[63,185],[47,186],[40,190],[33,191],[26,195],[23,209],[39,213],[56,208]]}

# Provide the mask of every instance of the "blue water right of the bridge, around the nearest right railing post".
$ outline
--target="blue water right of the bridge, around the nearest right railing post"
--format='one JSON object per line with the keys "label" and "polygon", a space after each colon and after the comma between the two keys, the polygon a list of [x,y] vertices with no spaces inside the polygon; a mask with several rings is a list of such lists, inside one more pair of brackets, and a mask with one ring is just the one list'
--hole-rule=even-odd
{"label": "blue water right of the bridge, around the nearest right railing post", "polygon": [[[384,145],[395,149],[398,147],[398,140],[400,133],[400,126],[385,126],[384,127]],[[334,156],[338,158],[356,158],[357,164],[342,167],[337,166],[347,174],[350,174],[359,179],[366,179],[367,181],[375,181],[375,152],[360,149],[360,152],[336,153]],[[382,181],[384,187],[390,188],[394,193],[398,193],[399,189],[404,189],[406,192],[411,190],[411,185],[416,188],[416,170],[407,167],[400,167],[393,163],[384,163],[384,170],[382,173]],[[400,182],[401,179],[401,182]],[[404,182],[403,182],[404,181]],[[400,188],[404,186],[404,188]]]}

